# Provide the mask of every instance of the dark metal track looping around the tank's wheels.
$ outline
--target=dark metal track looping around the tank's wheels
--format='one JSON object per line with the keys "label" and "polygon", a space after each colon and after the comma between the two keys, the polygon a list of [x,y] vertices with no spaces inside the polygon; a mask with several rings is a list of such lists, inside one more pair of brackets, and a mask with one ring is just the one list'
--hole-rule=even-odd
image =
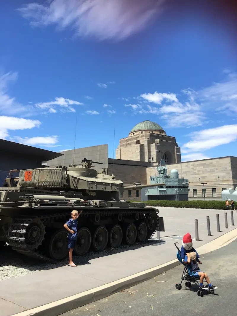
{"label": "dark metal track looping around the tank's wheels", "polygon": [[[37,248],[42,245],[43,240],[45,239],[45,234],[46,231],[44,229],[43,236],[41,236],[40,240],[38,243],[34,246],[29,246],[26,243],[26,229],[32,222],[40,222],[43,223],[44,221],[52,221],[54,219],[58,218],[63,218],[63,217],[68,217],[68,212],[69,210],[65,212],[60,212],[60,213],[49,213],[49,214],[44,214],[41,216],[33,216],[33,217],[18,217],[14,219],[14,222],[11,223],[8,233],[7,233],[7,243],[9,246],[12,246],[12,249],[15,250],[16,252],[19,252],[29,258],[40,260],[40,261],[45,261],[45,262],[52,262],[54,261],[52,258],[49,258],[48,256],[45,255],[45,252],[42,252],[41,250],[38,250]],[[123,215],[132,215],[139,213],[144,214],[144,213],[150,213],[148,210],[147,212],[144,212],[144,210],[128,210],[123,212],[123,210],[116,210],[116,211],[109,211],[109,210],[87,210],[88,212],[84,213],[82,216],[89,216],[89,215],[94,215],[94,214],[100,214],[100,215],[106,215],[106,216],[111,216],[111,215],[117,215],[119,213],[123,213]],[[152,211],[152,210],[151,210]],[[156,212],[156,217],[157,217],[157,225],[153,230],[150,230],[148,228],[147,230],[147,238],[146,240],[152,239],[154,236],[156,230],[158,229],[159,226],[159,216],[158,213]],[[44,226],[45,228],[45,226]]]}

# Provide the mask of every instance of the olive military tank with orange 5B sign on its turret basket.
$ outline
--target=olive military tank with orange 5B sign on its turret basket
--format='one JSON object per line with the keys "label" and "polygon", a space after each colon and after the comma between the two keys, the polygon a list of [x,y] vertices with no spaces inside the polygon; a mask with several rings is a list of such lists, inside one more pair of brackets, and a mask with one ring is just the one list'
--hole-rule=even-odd
{"label": "olive military tank with orange 5B sign on its turret basket", "polygon": [[[163,227],[155,208],[119,200],[120,192],[154,184],[124,186],[105,169],[97,172],[92,163],[84,158],[82,165],[11,170],[0,187],[0,245],[7,242],[13,250],[43,261],[62,260],[68,253],[63,225],[74,209],[82,210],[77,256],[91,248],[100,252],[106,246],[143,243]],[[14,178],[16,171],[19,177]]]}

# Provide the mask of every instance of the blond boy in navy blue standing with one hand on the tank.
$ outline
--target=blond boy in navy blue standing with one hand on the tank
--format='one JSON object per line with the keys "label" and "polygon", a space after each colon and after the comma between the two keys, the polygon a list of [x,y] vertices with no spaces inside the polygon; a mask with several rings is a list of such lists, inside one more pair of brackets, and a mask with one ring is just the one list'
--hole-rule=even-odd
{"label": "blond boy in navy blue standing with one hand on the tank", "polygon": [[67,237],[68,237],[68,248],[69,248],[68,265],[70,265],[70,267],[76,267],[76,264],[74,264],[72,261],[72,252],[76,244],[77,221],[81,213],[82,213],[82,210],[80,210],[80,213],[78,213],[77,210],[73,210],[71,212],[72,218],[70,218],[70,220],[64,224],[64,228],[66,228],[69,231],[69,234]]}

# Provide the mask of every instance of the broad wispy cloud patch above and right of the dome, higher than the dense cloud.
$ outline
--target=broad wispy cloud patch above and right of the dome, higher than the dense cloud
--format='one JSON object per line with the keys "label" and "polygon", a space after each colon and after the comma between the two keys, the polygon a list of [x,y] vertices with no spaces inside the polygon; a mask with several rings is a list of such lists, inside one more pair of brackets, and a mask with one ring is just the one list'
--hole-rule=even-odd
{"label": "broad wispy cloud patch above and right of the dome, higher than the dense cloud", "polygon": [[[129,100],[131,98],[122,98]],[[167,127],[190,127],[207,124],[210,112],[237,112],[237,74],[228,73],[225,81],[194,91],[183,89],[174,93],[143,93],[135,97],[136,103],[125,104],[134,114],[159,115]]]}

